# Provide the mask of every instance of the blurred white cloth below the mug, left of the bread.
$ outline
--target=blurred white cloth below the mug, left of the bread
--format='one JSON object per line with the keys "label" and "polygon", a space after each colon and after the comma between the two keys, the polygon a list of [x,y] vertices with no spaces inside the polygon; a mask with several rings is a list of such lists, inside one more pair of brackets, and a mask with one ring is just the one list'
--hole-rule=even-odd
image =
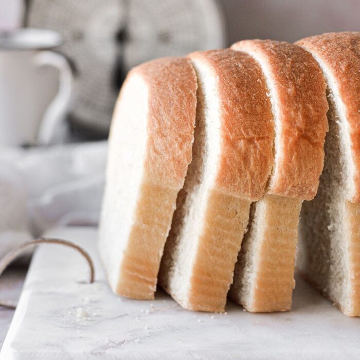
{"label": "blurred white cloth below the mug, left of the bread", "polygon": [[0,148],[0,256],[57,225],[97,225],[107,142]]}

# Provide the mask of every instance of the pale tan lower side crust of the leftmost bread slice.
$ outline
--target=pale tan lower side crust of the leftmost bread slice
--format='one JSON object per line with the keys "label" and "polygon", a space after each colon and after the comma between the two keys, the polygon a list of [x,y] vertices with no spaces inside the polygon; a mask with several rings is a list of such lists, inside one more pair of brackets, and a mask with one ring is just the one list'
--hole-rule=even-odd
{"label": "pale tan lower side crust of the leftmost bread slice", "polygon": [[176,202],[176,189],[143,184],[114,292],[153,299],[157,273]]}

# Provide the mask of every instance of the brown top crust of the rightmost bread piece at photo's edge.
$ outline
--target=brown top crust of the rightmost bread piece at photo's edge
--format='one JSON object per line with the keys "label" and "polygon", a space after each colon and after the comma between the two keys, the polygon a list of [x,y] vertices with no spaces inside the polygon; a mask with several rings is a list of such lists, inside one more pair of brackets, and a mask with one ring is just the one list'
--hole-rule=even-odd
{"label": "brown top crust of the rightmost bread piece at photo's edge", "polygon": [[296,43],[309,49],[333,75],[345,105],[354,163],[349,200],[360,203],[360,32],[325,33]]}

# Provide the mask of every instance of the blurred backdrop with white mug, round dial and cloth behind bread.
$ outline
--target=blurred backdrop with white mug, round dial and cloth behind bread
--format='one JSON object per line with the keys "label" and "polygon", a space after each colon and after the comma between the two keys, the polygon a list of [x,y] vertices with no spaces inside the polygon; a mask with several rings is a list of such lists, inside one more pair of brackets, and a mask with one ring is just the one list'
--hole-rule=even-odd
{"label": "blurred backdrop with white mug, round dial and cloth behind bread", "polygon": [[127,71],[241,39],[358,31],[358,0],[0,0],[0,255],[96,225]]}

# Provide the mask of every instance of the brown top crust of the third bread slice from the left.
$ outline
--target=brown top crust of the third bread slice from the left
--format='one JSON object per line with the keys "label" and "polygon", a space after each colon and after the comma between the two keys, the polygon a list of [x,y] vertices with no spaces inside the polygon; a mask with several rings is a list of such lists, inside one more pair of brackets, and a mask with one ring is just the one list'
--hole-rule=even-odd
{"label": "brown top crust of the third bread slice from the left", "polygon": [[[268,192],[312,200],[323,168],[328,131],[326,84],[313,57],[286,42],[245,40],[231,46],[265,65],[276,97],[275,164]],[[269,80],[268,80],[269,85]],[[273,109],[274,113],[274,109]]]}

